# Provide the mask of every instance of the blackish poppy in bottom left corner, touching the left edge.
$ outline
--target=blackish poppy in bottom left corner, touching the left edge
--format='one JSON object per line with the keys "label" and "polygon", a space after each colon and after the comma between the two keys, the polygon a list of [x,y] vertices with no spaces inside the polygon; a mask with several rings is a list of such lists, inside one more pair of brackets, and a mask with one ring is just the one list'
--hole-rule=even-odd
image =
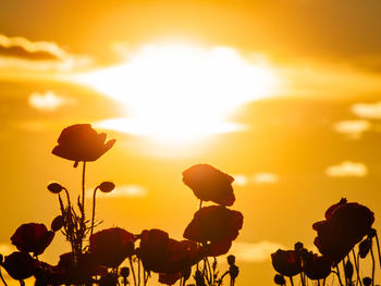
{"label": "blackish poppy in bottom left corner, touching the left edge", "polygon": [[7,270],[8,274],[17,281],[30,277],[37,265],[38,261],[26,252],[13,252],[7,256],[1,264],[1,266]]}

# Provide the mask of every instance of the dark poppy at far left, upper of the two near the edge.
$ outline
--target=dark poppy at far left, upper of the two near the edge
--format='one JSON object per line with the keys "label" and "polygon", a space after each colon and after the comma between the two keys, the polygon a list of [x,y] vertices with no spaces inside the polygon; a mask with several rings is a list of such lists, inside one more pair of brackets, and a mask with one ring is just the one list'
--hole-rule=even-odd
{"label": "dark poppy at far left, upper of the two near the edge", "polygon": [[33,252],[34,256],[41,254],[51,244],[54,232],[48,231],[44,224],[22,224],[12,235],[12,244],[23,252]]}

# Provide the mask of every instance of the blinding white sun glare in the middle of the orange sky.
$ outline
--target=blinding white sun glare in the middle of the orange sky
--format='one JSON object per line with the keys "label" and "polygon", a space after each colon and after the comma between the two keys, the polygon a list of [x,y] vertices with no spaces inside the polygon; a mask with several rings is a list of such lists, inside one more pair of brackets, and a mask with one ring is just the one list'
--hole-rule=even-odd
{"label": "blinding white sun glare in the middle of the orange sky", "polygon": [[248,101],[271,96],[279,76],[235,49],[150,45],[115,66],[75,77],[125,105],[126,116],[98,123],[161,142],[193,142],[244,128],[230,116]]}

